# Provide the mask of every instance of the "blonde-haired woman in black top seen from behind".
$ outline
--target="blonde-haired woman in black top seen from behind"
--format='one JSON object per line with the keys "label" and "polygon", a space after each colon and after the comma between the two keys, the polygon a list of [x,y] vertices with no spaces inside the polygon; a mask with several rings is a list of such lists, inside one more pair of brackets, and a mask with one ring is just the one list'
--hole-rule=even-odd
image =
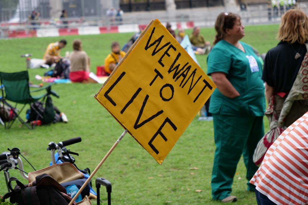
{"label": "blonde-haired woman in black top seen from behind", "polygon": [[[299,9],[288,10],[281,19],[278,45],[265,56],[262,79],[265,81],[267,102],[274,97],[277,119],[282,105],[290,92],[307,52],[308,17]],[[288,127],[308,110],[307,100],[294,101],[284,125]]]}

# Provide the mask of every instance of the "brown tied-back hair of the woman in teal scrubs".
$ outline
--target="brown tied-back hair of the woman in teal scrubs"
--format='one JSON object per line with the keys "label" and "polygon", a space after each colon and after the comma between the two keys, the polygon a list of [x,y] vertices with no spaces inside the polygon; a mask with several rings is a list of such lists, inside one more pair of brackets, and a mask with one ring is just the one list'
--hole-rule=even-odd
{"label": "brown tied-back hair of the woman in teal scrubs", "polygon": [[213,44],[215,45],[218,41],[225,38],[226,29],[232,29],[237,18],[241,18],[237,14],[229,13],[220,13],[215,22],[216,36]]}

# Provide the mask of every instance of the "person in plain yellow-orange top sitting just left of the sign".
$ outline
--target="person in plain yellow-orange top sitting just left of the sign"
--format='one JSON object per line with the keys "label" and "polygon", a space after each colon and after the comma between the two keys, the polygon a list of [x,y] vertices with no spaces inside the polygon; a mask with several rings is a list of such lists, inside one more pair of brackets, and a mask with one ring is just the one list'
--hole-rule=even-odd
{"label": "person in plain yellow-orange top sitting just left of the sign", "polygon": [[113,69],[115,69],[125,54],[124,51],[120,50],[119,42],[115,41],[111,43],[111,53],[105,58],[105,71],[108,75],[112,73]]}

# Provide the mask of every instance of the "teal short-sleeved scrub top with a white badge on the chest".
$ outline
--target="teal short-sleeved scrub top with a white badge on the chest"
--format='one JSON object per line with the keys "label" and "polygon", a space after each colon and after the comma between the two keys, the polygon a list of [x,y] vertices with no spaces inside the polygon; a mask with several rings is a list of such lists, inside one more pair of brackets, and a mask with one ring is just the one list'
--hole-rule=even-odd
{"label": "teal short-sleeved scrub top with a white badge on the chest", "polygon": [[226,73],[227,79],[240,96],[229,98],[215,89],[209,112],[236,116],[263,116],[265,112],[265,89],[261,79],[262,65],[251,46],[240,42],[244,53],[225,40],[219,41],[207,58],[208,75]]}

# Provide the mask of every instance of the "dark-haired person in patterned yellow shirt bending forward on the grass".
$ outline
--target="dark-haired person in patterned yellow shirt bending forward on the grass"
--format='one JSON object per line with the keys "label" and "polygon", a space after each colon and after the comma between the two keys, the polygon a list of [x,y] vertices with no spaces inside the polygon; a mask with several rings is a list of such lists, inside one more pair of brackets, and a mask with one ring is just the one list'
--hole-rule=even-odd
{"label": "dark-haired person in patterned yellow shirt bending forward on the grass", "polygon": [[66,46],[66,44],[67,42],[64,39],[59,42],[50,43],[47,46],[43,57],[45,64],[52,65],[53,63],[57,62],[59,58],[62,58],[62,56],[60,56],[60,51]]}

